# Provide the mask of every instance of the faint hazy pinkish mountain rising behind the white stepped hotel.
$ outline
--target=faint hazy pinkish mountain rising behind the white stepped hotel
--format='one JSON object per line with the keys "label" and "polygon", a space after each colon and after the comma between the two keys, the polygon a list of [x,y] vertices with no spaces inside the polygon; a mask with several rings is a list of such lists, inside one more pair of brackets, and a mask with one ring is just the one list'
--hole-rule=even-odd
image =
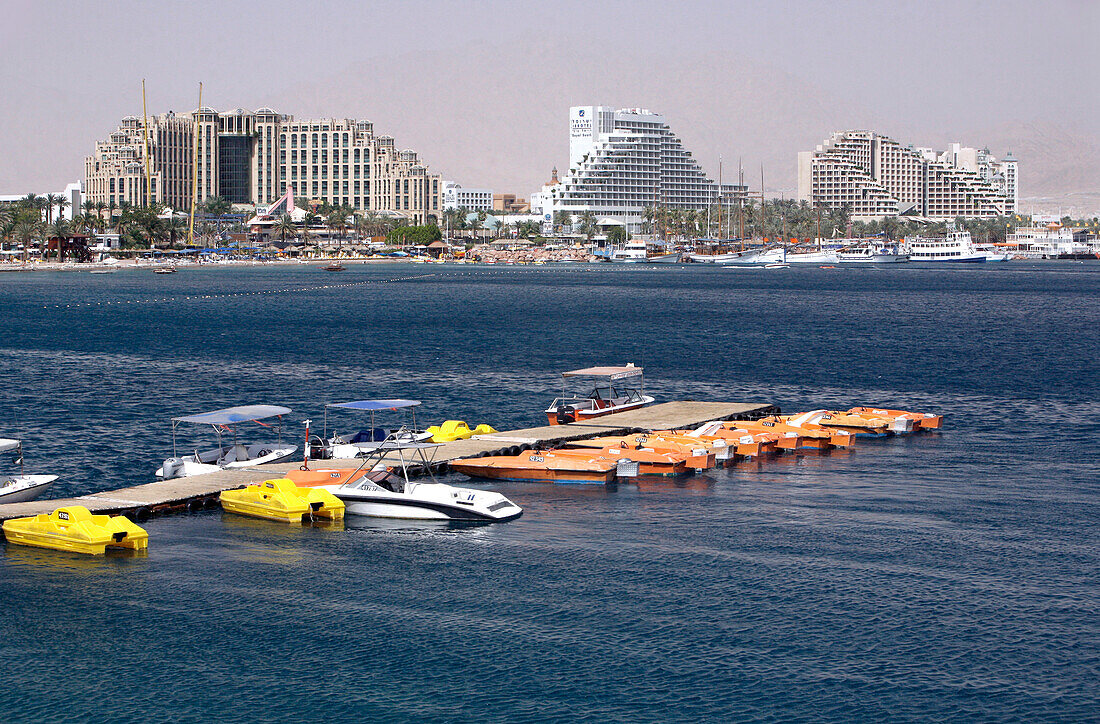
{"label": "faint hazy pinkish mountain rising behind the white stepped hotel", "polygon": [[848,128],[875,128],[917,145],[959,141],[998,156],[1012,151],[1026,197],[1100,193],[1100,147],[1066,128],[996,121],[978,129],[912,128],[889,109],[854,106],[721,51],[705,59],[667,58],[644,48],[505,43],[471,47],[461,59],[451,52],[393,57],[272,102],[300,117],[370,118],[433,171],[522,196],[537,190],[552,166],[565,171],[568,110],[585,103],[664,113],[708,173],[717,175],[721,154],[725,178],[733,179],[740,156],[746,180],[759,187],[762,163],[769,193],[793,194],[796,152]]}

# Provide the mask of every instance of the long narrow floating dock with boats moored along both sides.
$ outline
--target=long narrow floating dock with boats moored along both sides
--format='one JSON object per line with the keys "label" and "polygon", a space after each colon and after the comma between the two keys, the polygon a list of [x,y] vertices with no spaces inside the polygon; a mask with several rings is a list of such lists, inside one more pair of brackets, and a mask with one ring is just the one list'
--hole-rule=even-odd
{"label": "long narrow floating dock with boats moored along both sides", "polygon": [[[695,427],[713,420],[757,419],[779,414],[779,412],[774,405],[754,403],[661,403],[582,423],[508,430],[477,436],[469,440],[444,442],[436,448],[436,454],[431,458],[431,467],[435,471],[443,472],[451,460],[459,458],[518,454],[520,451],[531,448],[553,447],[562,442],[604,435]],[[399,462],[393,453],[386,458],[386,461],[395,464]],[[141,464],[147,464],[152,469],[156,467],[157,462],[156,460],[146,460],[142,461]],[[311,462],[319,468],[354,468],[362,460],[317,460]],[[410,461],[406,459],[406,462]],[[66,505],[82,505],[91,513],[97,514],[125,514],[138,522],[172,512],[212,509],[218,507],[218,495],[222,491],[283,478],[288,470],[300,464],[301,459],[296,458],[254,468],[219,470],[190,478],[162,480],[133,487],[89,493],[78,497],[8,503],[0,505],[0,522],[37,515],[38,513],[52,513]],[[409,474],[424,474],[426,472],[422,465],[409,464]]]}

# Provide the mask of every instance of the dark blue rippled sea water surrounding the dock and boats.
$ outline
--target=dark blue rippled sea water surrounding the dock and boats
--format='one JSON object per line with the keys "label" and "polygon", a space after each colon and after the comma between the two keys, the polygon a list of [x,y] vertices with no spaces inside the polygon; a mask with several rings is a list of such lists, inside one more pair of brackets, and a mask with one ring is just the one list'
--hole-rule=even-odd
{"label": "dark blue rippled sea water surrounding the dock and boats", "polygon": [[0,437],[56,496],[148,482],[184,413],[285,404],[297,436],[323,402],[414,397],[509,429],[593,363],[661,399],[946,415],[496,485],[504,525],[208,512],[148,522],[144,558],[6,546],[0,718],[1098,721],[1098,350],[1097,264],[0,275]]}

